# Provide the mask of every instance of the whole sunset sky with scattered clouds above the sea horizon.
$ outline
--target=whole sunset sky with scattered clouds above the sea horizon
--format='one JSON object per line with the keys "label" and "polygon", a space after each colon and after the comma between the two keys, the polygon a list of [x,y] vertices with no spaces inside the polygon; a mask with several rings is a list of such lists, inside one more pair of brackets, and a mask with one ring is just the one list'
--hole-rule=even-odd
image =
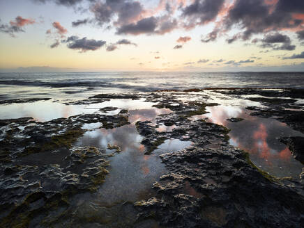
{"label": "whole sunset sky with scattered clouds above the sea horizon", "polygon": [[0,0],[0,71],[47,67],[304,71],[304,1]]}

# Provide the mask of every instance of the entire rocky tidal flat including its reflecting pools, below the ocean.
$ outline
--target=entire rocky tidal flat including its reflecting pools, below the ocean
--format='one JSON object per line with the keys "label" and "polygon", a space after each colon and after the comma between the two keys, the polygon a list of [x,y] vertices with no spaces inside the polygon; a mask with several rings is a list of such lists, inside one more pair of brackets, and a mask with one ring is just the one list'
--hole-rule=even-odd
{"label": "entire rocky tidal flat including its reflecting pools, below the ocean", "polygon": [[0,227],[303,227],[303,89],[0,107]]}

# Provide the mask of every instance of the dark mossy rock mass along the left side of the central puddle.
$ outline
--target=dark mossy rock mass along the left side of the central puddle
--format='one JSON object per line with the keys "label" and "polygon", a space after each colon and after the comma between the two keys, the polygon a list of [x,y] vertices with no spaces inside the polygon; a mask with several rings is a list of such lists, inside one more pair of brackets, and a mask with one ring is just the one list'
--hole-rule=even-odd
{"label": "dark mossy rock mass along the left side of the central puddle", "polygon": [[70,207],[70,197],[99,188],[108,173],[105,149],[73,145],[86,131],[83,124],[93,122],[108,129],[128,124],[128,117],[0,121],[0,227],[50,227],[43,221],[48,216],[56,220]]}

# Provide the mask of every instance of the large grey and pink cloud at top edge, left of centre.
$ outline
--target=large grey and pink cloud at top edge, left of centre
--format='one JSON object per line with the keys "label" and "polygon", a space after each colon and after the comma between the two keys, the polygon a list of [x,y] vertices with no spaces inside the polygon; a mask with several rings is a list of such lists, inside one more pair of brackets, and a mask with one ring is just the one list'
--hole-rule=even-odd
{"label": "large grey and pink cloud at top edge, left of centre", "polygon": [[[139,1],[106,0],[98,1],[91,6],[98,25],[113,24],[117,34],[139,35],[165,34],[178,27],[178,20],[172,13],[155,17],[151,10],[145,10]],[[157,10],[156,10],[157,11]],[[116,19],[116,20],[115,20]]]}

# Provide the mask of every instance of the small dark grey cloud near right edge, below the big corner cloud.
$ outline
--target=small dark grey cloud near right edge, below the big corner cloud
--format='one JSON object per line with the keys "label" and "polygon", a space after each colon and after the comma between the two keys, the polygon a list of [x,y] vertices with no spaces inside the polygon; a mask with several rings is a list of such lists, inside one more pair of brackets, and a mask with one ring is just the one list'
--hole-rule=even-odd
{"label": "small dark grey cloud near right edge, below the big corner cloud", "polygon": [[261,47],[263,48],[272,48],[273,50],[286,51],[293,51],[296,49],[296,46],[291,44],[290,38],[287,35],[283,35],[281,33],[271,33],[265,35],[261,42]]}

